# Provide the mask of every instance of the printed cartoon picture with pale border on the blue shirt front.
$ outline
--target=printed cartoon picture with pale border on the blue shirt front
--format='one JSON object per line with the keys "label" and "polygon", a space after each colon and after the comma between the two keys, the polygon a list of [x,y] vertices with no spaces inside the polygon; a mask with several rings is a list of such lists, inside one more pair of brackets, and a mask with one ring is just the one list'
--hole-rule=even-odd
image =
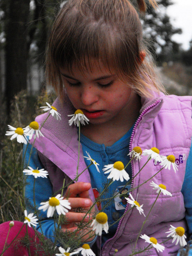
{"label": "printed cartoon picture with pale border on the blue shirt front", "polygon": [[[125,188],[124,186],[119,186],[116,188],[116,191],[114,193],[115,201],[115,209],[116,210],[122,210],[126,208],[127,200],[126,198],[129,197],[129,190],[131,188],[131,185],[127,185]],[[122,190],[122,191],[121,191]]]}

